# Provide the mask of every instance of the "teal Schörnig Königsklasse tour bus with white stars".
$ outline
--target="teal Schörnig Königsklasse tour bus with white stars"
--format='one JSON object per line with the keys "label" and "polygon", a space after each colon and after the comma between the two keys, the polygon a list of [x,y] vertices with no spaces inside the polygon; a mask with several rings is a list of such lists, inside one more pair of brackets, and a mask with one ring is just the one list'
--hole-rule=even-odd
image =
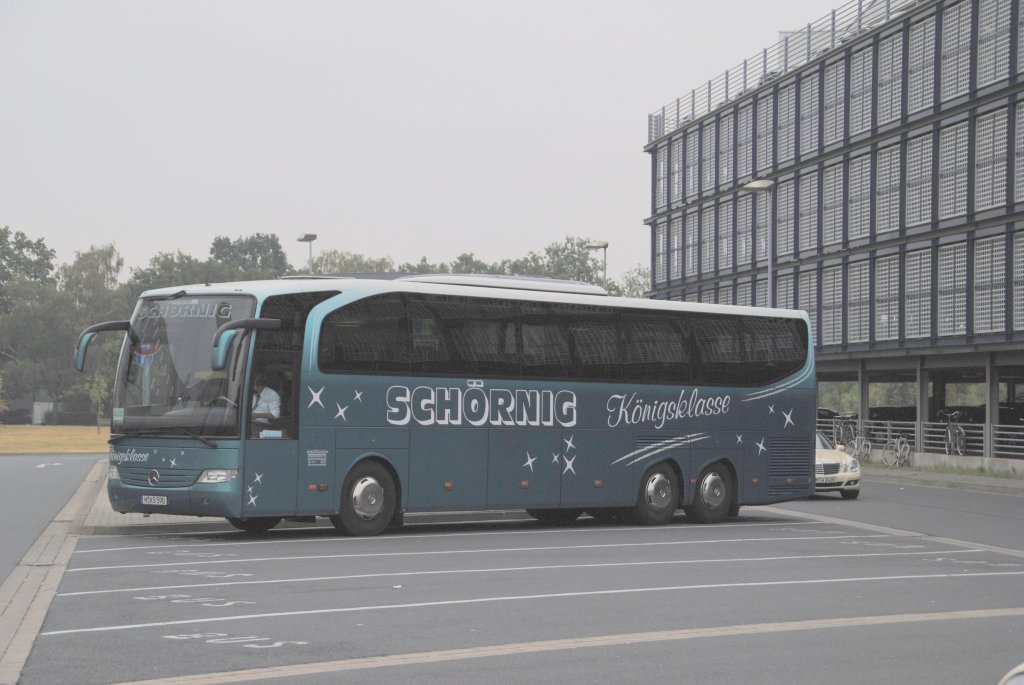
{"label": "teal Sch\u00f6rnig K\u00f6nigsklasse tour bus with white stars", "polygon": [[103,332],[118,512],[371,536],[426,511],[717,522],[814,491],[803,311],[388,274],[147,291],[82,333],[80,370]]}

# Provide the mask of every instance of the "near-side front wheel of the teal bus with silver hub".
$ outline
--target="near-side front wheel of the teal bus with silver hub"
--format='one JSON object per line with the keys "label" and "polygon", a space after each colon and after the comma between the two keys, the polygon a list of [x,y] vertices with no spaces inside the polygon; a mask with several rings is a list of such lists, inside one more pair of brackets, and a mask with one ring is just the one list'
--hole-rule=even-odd
{"label": "near-side front wheel of the teal bus with silver hub", "polygon": [[356,464],[341,488],[341,512],[331,523],[344,536],[376,536],[384,531],[397,508],[391,473],[379,462]]}

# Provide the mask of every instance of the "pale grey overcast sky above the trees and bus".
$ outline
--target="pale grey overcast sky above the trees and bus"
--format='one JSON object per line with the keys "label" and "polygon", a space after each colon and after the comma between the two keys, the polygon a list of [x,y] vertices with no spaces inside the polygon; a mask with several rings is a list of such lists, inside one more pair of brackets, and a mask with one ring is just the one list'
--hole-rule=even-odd
{"label": "pale grey overcast sky above the trees and bus", "polygon": [[649,259],[648,113],[838,5],[0,0],[0,226],[126,266],[579,236],[616,277]]}

